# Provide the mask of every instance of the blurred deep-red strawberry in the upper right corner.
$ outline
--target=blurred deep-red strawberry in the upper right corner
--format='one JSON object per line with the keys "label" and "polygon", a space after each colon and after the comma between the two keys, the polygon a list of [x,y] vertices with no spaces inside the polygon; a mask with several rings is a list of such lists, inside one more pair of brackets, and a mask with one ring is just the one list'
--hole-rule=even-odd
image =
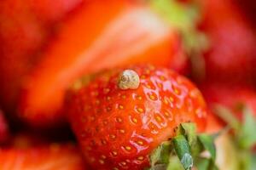
{"label": "blurred deep-red strawberry in the upper right corner", "polygon": [[211,45],[205,55],[207,78],[250,81],[256,71],[256,37],[241,8],[234,0],[201,2],[202,29]]}

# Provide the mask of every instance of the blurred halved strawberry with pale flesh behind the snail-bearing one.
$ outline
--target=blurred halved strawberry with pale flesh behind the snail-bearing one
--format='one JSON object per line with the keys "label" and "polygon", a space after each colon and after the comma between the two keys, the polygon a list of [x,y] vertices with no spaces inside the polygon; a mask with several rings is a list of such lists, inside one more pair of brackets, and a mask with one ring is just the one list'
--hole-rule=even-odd
{"label": "blurred halved strawberry with pale flesh behind the snail-bearing one", "polygon": [[[169,6],[177,8],[177,4]],[[176,14],[171,15],[173,20]],[[181,18],[188,16],[184,13]],[[183,26],[187,21],[175,23]],[[175,23],[168,25],[152,8],[125,0],[86,3],[62,25],[44,59],[27,77],[20,116],[42,127],[61,122],[69,85],[83,74],[104,68],[146,62],[183,71],[187,58]]]}

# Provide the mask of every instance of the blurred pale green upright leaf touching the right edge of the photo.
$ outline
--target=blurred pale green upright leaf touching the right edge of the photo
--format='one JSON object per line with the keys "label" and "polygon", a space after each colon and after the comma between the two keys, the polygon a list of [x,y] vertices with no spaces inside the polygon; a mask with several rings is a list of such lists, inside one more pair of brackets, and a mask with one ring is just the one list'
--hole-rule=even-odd
{"label": "blurred pale green upright leaf touching the right edge of the photo", "polygon": [[239,133],[239,144],[241,148],[249,149],[256,144],[256,120],[253,117],[253,111],[244,107],[243,109],[243,123],[241,132]]}

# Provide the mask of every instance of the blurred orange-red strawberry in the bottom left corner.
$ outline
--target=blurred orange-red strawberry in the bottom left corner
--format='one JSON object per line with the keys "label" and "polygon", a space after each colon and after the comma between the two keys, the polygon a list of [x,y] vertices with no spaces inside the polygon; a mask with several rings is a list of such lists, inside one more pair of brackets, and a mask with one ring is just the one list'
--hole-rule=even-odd
{"label": "blurred orange-red strawberry in the bottom left corner", "polygon": [[28,148],[0,150],[1,170],[84,170],[79,150],[73,144],[44,144]]}

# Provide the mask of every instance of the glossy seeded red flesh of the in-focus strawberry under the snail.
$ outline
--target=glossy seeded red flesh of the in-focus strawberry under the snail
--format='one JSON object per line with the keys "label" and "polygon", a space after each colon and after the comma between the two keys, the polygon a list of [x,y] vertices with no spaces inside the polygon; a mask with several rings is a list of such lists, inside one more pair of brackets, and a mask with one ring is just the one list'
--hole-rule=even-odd
{"label": "glossy seeded red flesh of the in-focus strawberry under the snail", "polygon": [[140,78],[136,89],[120,89],[114,69],[87,85],[75,83],[65,110],[85,160],[93,169],[143,169],[148,154],[175,135],[182,122],[205,128],[207,107],[186,78],[152,65],[129,67]]}

